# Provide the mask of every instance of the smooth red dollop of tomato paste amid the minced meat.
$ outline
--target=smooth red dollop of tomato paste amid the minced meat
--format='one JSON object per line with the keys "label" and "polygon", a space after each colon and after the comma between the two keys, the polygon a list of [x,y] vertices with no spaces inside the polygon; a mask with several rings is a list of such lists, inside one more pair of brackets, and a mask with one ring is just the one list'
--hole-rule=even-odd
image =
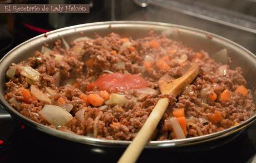
{"label": "smooth red dollop of tomato paste amid the minced meat", "polygon": [[95,82],[89,84],[87,90],[91,91],[96,86],[100,91],[111,93],[148,87],[149,83],[139,75],[109,73],[100,76]]}

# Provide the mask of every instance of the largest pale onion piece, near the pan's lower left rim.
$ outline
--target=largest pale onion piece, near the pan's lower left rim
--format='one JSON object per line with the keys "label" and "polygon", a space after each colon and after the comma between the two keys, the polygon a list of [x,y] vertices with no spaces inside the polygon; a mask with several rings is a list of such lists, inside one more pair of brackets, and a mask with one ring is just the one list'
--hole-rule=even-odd
{"label": "largest pale onion piece, near the pan's lower left rim", "polygon": [[66,125],[73,118],[69,112],[55,105],[45,105],[39,114],[55,127]]}

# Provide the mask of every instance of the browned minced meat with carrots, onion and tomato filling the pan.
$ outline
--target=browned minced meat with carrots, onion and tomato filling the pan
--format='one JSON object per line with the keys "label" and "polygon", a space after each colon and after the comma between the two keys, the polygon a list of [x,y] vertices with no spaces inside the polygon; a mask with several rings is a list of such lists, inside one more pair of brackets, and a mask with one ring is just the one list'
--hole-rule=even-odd
{"label": "browned minced meat with carrots, onion and tomato filling the pan", "polygon": [[[191,62],[200,66],[195,80],[176,98],[160,95],[160,78],[179,78]],[[75,39],[71,47],[62,38],[28,61],[12,63],[6,74],[5,98],[22,115],[100,139],[134,139],[163,97],[169,107],[151,140],[211,134],[255,111],[241,68],[231,70],[203,50],[154,32],[139,39],[96,34]]]}

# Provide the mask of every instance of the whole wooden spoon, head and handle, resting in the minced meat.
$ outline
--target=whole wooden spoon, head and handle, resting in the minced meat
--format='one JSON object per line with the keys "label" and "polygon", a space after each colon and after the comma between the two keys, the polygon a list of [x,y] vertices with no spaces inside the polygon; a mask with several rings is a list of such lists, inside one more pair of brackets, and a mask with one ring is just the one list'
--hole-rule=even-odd
{"label": "whole wooden spoon, head and handle, resting in the minced meat", "polygon": [[[190,83],[194,81],[198,73],[199,66],[196,63],[191,63],[184,67],[183,76],[177,79],[174,79],[169,74],[164,75],[158,82],[161,94],[172,94],[174,97],[178,96],[186,86],[190,85]],[[137,133],[135,139],[127,147],[124,154],[122,154],[118,162],[135,162],[137,160],[141,151],[144,149],[144,146],[155,131],[157,124],[163,117],[168,105],[169,100],[166,97],[161,98],[156,103],[155,108],[150,113],[145,124]]]}

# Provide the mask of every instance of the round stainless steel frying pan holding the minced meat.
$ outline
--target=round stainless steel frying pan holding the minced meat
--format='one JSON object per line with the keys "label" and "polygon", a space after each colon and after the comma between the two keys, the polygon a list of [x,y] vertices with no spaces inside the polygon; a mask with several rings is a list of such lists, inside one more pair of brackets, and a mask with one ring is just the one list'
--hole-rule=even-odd
{"label": "round stainless steel frying pan holding the minced meat", "polygon": [[[81,32],[84,33],[84,36],[91,38],[94,37],[95,32],[101,36],[106,36],[106,34],[109,34],[110,32],[116,32],[122,37],[132,37],[135,39],[147,36],[150,29],[154,29],[154,31],[158,34],[161,34],[163,31],[168,31],[170,38],[181,41],[184,44],[194,48],[196,51],[205,50],[209,53],[210,56],[213,57],[216,52],[226,48],[228,50],[228,56],[232,59],[232,63],[230,63],[231,68],[242,67],[243,75],[248,81],[248,88],[250,88],[253,92],[255,91],[256,57],[253,55],[253,53],[249,52],[242,46],[239,46],[237,43],[217,36],[213,33],[201,31],[195,28],[178,26],[175,24],[141,21],[116,21],[81,24],[77,26],[57,29],[55,31],[48,32],[47,37],[45,37],[46,35],[41,34],[40,36],[31,38],[21,45],[13,48],[13,50],[8,52],[7,55],[4,56],[0,61],[1,105],[13,118],[24,122],[34,129],[56,137],[60,137],[62,139],[96,146],[125,147],[129,145],[130,141],[95,139],[92,137],[74,135],[67,132],[50,129],[49,127],[43,126],[28,119],[27,117],[24,117],[4,99],[4,83],[6,81],[6,71],[12,62],[19,63],[23,60],[26,60],[28,57],[32,57],[35,54],[35,51],[41,50],[43,43],[48,43],[51,46],[57,39],[60,39],[61,37],[64,37],[67,42],[71,42],[73,39],[81,37]],[[256,100],[254,95],[254,103],[255,101]],[[224,131],[216,132],[214,134],[181,140],[151,141],[146,145],[146,148],[181,147],[224,139],[225,137],[238,133],[239,131],[245,129],[245,127],[248,127],[255,121],[255,117],[256,114],[238,126]]]}

